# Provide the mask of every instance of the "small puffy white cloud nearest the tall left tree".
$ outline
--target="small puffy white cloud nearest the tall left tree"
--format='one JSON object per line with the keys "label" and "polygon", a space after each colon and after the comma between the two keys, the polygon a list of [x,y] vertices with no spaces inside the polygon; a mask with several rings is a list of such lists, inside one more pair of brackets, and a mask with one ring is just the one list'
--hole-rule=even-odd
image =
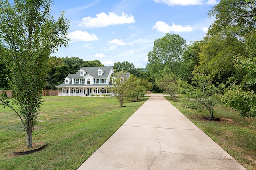
{"label": "small puffy white cloud nearest the tall left tree", "polygon": [[86,31],[76,30],[73,32],[70,32],[68,34],[68,38],[70,38],[71,43],[72,42],[78,42],[78,41],[95,41],[98,40],[98,37],[95,34],[89,34]]}

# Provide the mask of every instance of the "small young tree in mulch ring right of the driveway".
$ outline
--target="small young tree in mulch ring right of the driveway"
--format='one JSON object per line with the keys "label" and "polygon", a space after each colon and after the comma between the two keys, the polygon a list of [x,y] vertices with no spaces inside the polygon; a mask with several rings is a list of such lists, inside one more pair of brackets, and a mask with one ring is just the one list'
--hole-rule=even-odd
{"label": "small young tree in mulch ring right of the driveway", "polygon": [[178,80],[178,90],[184,95],[182,98],[184,107],[193,109],[206,109],[209,111],[210,119],[214,119],[213,106],[218,102],[218,88],[212,84],[210,76],[203,74],[194,74],[192,83],[188,84]]}

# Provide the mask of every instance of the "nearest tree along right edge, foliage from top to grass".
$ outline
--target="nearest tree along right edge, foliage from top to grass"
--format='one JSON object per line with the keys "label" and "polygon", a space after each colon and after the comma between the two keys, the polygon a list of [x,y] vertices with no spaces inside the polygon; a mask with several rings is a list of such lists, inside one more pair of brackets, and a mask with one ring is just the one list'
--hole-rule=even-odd
{"label": "nearest tree along right edge, foliage from top to grass", "polygon": [[[246,45],[246,54],[235,55],[235,68],[245,72],[240,81],[235,80],[226,89],[221,101],[229,107],[240,111],[241,117],[256,115],[256,1],[255,0],[221,0],[210,10],[215,16],[209,34],[216,35],[225,29],[239,37]],[[228,82],[230,83],[230,82]]]}

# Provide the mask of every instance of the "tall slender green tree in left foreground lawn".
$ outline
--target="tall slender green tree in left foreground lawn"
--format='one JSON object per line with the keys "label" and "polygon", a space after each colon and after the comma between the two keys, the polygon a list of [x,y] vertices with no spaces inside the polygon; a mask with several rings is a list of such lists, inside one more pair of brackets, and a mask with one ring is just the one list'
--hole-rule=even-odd
{"label": "tall slender green tree in left foreground lawn", "polygon": [[[42,106],[42,90],[48,71],[48,57],[61,45],[68,45],[69,22],[62,12],[58,20],[50,14],[50,0],[0,0],[0,43],[3,61],[11,72],[13,107],[32,147],[32,132]],[[14,109],[15,108],[15,109]],[[18,109],[16,109],[18,108]]]}

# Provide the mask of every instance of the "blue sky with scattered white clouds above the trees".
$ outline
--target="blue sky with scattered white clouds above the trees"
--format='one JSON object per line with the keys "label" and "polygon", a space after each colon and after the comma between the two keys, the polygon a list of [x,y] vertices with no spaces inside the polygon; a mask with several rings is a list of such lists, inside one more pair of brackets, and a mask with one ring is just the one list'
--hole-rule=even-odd
{"label": "blue sky with scattered white clouds above the trees", "polygon": [[70,21],[69,46],[57,57],[100,60],[105,66],[128,61],[146,67],[155,39],[178,34],[187,43],[202,39],[214,18],[208,11],[219,0],[55,0],[55,18]]}

